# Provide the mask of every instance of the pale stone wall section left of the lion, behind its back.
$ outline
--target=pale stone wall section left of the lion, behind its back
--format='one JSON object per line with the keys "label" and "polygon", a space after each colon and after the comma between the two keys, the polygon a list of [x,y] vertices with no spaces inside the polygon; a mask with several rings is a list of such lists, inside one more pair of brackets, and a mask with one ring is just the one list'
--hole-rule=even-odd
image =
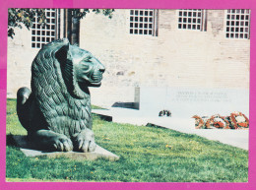
{"label": "pale stone wall section left of the lion, behind its back", "polygon": [[25,27],[15,29],[14,38],[8,37],[7,96],[16,97],[22,87],[31,88],[32,60],[39,49],[32,48],[32,32]]}

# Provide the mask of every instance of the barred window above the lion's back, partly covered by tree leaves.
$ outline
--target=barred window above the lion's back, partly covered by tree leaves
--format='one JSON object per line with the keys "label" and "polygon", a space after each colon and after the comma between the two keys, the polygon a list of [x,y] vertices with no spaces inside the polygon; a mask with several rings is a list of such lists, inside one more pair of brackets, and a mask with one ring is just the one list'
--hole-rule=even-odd
{"label": "barred window above the lion's back, partly covered by tree leaves", "polygon": [[39,18],[34,17],[32,25],[32,48],[41,48],[44,44],[55,39],[56,10],[45,9],[46,25],[39,24]]}

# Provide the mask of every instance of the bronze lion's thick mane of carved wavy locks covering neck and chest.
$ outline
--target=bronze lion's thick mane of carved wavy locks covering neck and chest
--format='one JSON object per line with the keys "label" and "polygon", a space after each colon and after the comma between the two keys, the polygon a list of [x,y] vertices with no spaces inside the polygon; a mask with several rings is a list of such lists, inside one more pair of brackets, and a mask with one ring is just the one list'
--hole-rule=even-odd
{"label": "bronze lion's thick mane of carved wavy locks covering neck and chest", "polygon": [[67,39],[48,43],[32,62],[35,103],[48,129],[68,137],[92,129],[90,93],[88,87],[82,91],[76,82],[70,46]]}

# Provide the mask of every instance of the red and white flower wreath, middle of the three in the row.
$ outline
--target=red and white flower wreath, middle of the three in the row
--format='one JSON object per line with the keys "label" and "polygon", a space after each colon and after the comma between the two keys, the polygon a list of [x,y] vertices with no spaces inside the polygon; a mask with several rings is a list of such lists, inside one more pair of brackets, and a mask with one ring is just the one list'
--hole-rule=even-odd
{"label": "red and white flower wreath, middle of the three in the row", "polygon": [[206,122],[206,129],[230,129],[229,122],[221,115],[213,115]]}

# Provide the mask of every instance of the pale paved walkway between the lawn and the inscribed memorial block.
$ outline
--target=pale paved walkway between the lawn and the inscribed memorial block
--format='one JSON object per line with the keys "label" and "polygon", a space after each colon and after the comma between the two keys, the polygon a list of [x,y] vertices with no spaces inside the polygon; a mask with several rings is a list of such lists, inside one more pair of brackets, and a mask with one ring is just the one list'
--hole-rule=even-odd
{"label": "pale paved walkway between the lawn and the inscribed memorial block", "polygon": [[248,150],[248,130],[195,129],[193,118],[149,117],[145,112],[135,109],[112,107],[109,110],[93,109],[93,113],[108,116],[113,122],[134,125],[154,124],[187,134],[195,134],[209,140]]}

